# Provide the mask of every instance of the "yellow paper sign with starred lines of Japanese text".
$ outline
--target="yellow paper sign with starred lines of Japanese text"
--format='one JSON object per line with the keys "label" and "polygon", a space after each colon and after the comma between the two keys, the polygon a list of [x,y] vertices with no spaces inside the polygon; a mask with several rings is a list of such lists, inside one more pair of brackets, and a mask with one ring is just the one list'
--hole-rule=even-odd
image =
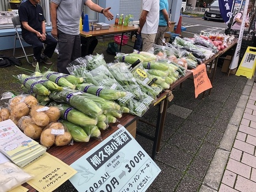
{"label": "yellow paper sign with starred lines of Japanese text", "polygon": [[25,166],[23,170],[35,176],[27,184],[37,191],[43,192],[57,189],[77,172],[63,161],[48,153],[38,157],[34,162]]}

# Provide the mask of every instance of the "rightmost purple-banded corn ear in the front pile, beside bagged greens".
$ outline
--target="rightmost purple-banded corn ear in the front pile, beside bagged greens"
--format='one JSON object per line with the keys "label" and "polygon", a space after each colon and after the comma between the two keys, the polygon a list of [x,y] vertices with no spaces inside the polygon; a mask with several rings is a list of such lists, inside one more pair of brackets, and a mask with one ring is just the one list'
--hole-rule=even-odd
{"label": "rightmost purple-banded corn ear in the front pile, beside bagged greens", "polygon": [[102,88],[99,86],[93,86],[92,84],[88,83],[77,84],[76,89],[107,100],[116,100],[125,97],[127,94],[126,92],[118,91],[115,89]]}

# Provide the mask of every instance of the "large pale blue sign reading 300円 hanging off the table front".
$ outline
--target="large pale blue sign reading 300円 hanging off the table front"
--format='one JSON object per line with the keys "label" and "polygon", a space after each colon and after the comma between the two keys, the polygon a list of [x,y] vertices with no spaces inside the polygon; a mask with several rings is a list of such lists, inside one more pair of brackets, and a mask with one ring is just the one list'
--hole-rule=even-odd
{"label": "large pale blue sign reading 300\u5186 hanging off the table front", "polygon": [[84,192],[146,191],[161,171],[123,126],[70,166],[70,182]]}

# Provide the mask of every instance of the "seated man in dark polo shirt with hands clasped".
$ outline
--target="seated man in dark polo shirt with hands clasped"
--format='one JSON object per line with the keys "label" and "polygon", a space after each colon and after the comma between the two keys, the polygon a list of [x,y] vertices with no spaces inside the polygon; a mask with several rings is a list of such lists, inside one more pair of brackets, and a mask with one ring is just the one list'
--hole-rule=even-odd
{"label": "seated man in dark polo shirt with hands clasped", "polygon": [[[37,62],[43,62],[51,65],[51,58],[55,47],[57,46],[57,40],[46,33],[46,26],[44,24],[43,9],[40,3],[41,0],[27,0],[20,4],[19,17],[21,22],[21,35],[26,43],[31,44],[34,52],[34,59],[32,66],[36,66]],[[43,49],[43,43],[47,44]]]}

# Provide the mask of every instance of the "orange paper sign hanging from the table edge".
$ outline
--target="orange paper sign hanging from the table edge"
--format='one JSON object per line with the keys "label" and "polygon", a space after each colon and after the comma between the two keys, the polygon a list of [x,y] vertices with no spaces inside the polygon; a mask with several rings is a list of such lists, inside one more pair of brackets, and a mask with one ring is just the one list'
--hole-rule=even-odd
{"label": "orange paper sign hanging from the table edge", "polygon": [[212,83],[210,82],[206,67],[204,64],[198,65],[195,70],[192,70],[194,76],[194,95],[197,96],[207,89],[212,88]]}

